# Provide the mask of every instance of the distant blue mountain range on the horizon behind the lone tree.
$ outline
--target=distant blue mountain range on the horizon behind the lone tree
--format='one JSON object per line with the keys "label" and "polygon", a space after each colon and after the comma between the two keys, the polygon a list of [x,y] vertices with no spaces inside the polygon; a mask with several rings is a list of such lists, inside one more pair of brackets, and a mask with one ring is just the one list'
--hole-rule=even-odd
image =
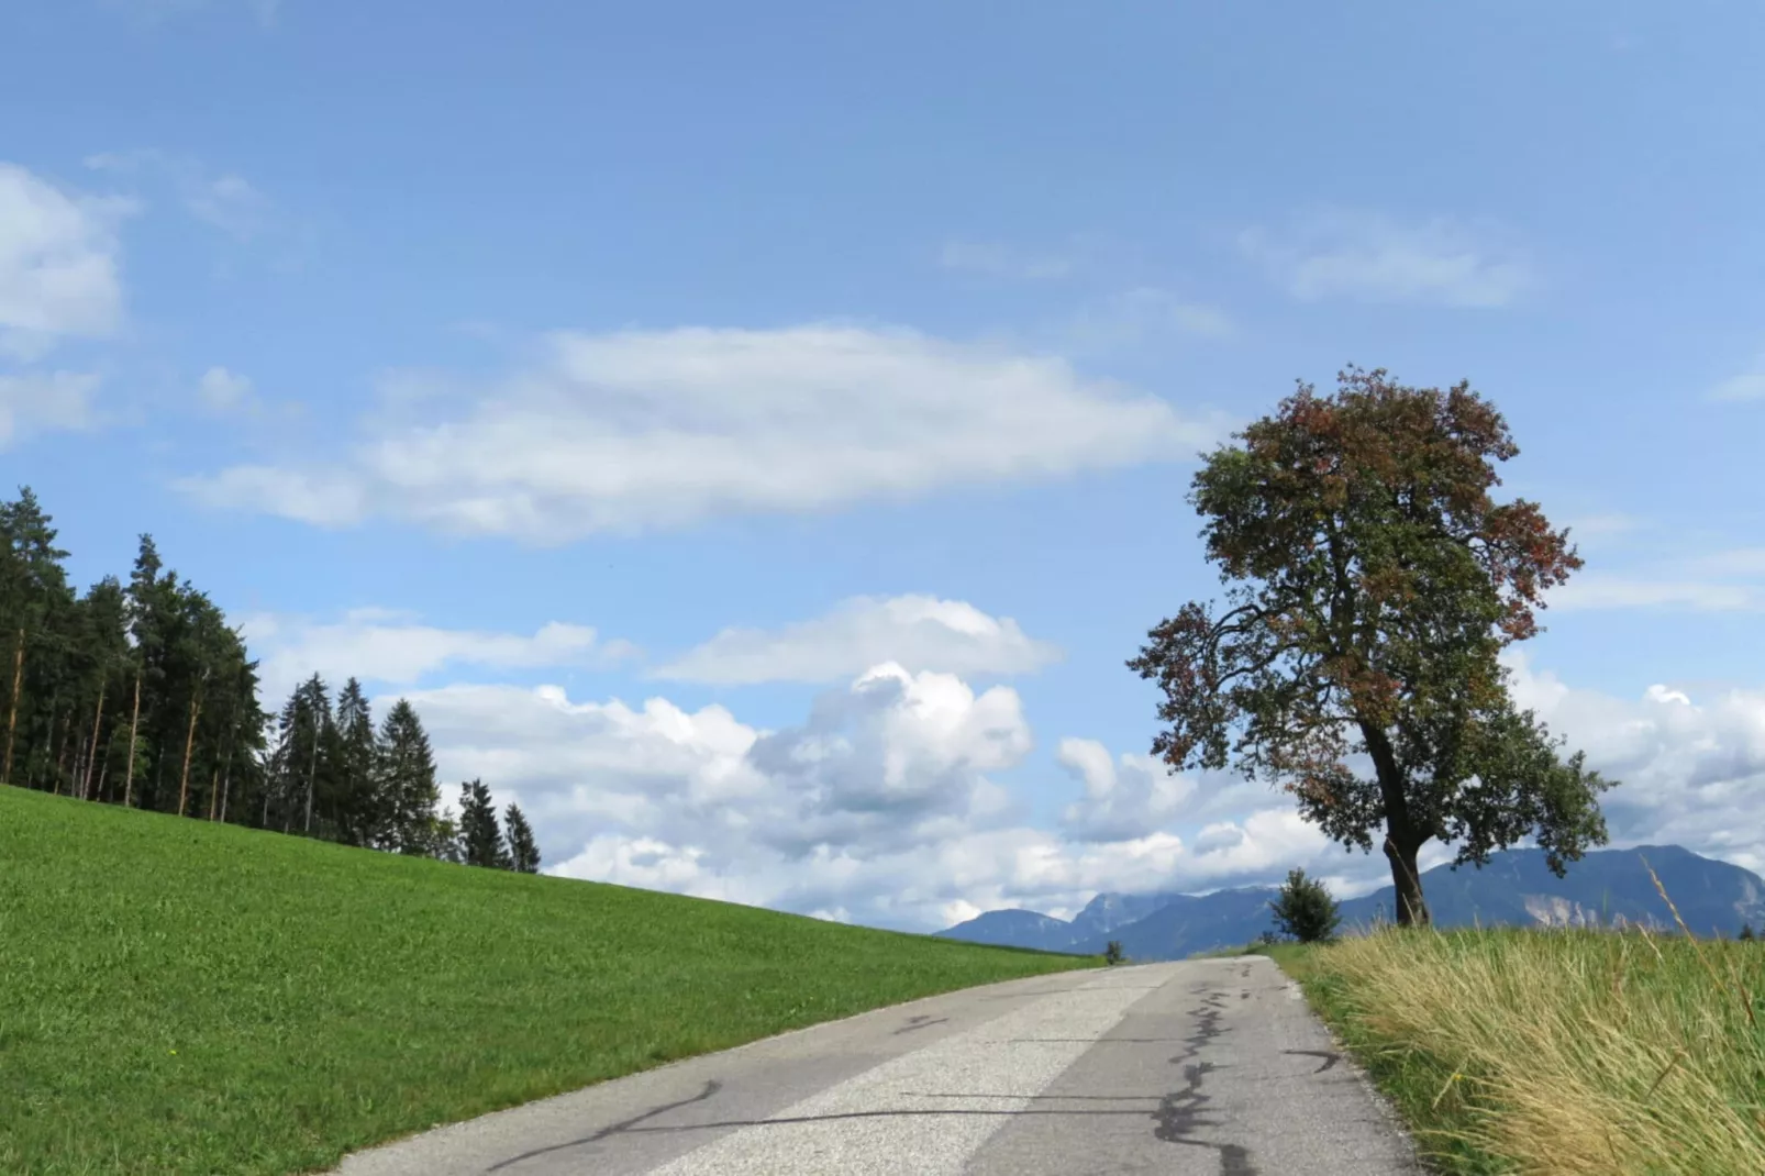
{"label": "distant blue mountain range on the horizon behind the lone tree", "polygon": [[[1483,869],[1437,865],[1423,872],[1423,893],[1440,927],[1603,927],[1619,922],[1671,927],[1673,913],[1649,878],[1654,867],[1680,918],[1700,936],[1735,936],[1744,923],[1765,931],[1765,881],[1728,862],[1680,846],[1596,849],[1569,863],[1566,878],[1544,865],[1543,849],[1506,849]],[[987,911],[939,931],[948,939],[1096,954],[1110,939],[1137,961],[1183,959],[1237,946],[1274,929],[1274,886],[1213,893],[1100,893],[1071,920],[1036,911]],[[1341,904],[1343,929],[1389,920],[1394,890],[1384,886]]]}

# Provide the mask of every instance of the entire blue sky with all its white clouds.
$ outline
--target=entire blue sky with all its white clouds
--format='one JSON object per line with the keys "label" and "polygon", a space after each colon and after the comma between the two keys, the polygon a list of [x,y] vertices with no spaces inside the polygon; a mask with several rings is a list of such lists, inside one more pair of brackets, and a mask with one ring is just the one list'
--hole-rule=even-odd
{"label": "entire blue sky with all its white clouds", "polygon": [[[1470,380],[1585,569],[1513,690],[1765,869],[1765,7],[18,0],[0,482],[551,872],[928,931],[1301,865],[1147,756],[1198,456]],[[1435,846],[1424,863],[1449,856]]]}

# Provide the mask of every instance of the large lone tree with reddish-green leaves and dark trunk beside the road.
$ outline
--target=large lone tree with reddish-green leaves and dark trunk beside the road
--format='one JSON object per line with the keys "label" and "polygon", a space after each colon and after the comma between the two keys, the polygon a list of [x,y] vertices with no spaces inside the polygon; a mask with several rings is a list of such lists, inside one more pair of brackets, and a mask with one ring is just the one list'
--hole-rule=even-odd
{"label": "large lone tree with reddish-green leaves and dark trunk beside the road", "polygon": [[1225,602],[1183,606],[1128,662],[1163,692],[1153,752],[1280,784],[1348,848],[1380,833],[1400,923],[1428,922],[1433,839],[1483,865],[1534,837],[1558,876],[1603,844],[1611,782],[1558,758],[1498,657],[1581,560],[1537,503],[1491,498],[1520,452],[1495,406],[1348,367],[1234,441],[1190,493]]}

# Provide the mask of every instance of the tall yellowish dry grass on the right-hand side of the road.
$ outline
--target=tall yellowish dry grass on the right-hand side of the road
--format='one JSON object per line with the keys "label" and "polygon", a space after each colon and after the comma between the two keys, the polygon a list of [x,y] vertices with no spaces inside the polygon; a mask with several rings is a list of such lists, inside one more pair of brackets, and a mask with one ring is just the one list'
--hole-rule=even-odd
{"label": "tall yellowish dry grass on the right-hand side of the road", "polygon": [[1382,931],[1276,961],[1447,1172],[1765,1172],[1765,943]]}

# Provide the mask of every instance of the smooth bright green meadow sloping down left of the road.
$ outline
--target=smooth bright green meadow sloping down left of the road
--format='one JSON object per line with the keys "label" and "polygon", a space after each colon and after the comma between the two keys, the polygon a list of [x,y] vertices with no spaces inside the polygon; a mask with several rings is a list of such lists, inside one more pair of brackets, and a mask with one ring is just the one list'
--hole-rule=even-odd
{"label": "smooth bright green meadow sloping down left of the road", "polygon": [[325,1169],[674,1058],[1096,962],[0,788],[0,1171]]}

